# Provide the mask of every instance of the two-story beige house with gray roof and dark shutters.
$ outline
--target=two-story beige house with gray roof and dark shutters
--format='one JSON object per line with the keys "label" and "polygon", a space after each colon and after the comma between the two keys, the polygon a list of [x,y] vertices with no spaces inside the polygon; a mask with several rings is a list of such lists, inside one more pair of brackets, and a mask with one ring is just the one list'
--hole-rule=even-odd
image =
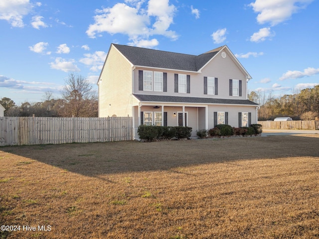
{"label": "two-story beige house with gray roof and dark shutters", "polygon": [[[247,100],[251,76],[221,46],[195,56],[111,44],[98,80],[99,117],[133,117],[141,124],[210,129],[257,123]],[[135,138],[138,135],[135,133]]]}

